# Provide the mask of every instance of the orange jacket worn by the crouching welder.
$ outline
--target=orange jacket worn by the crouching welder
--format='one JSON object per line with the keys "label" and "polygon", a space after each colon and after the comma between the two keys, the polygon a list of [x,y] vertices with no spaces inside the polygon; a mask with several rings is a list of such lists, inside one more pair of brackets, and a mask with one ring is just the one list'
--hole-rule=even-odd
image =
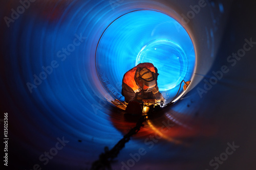
{"label": "orange jacket worn by the crouching welder", "polygon": [[130,102],[135,98],[135,94],[141,91],[141,88],[137,85],[136,79],[136,70],[137,68],[147,68],[157,74],[157,69],[152,63],[140,63],[137,66],[133,67],[127,71],[123,76],[122,81],[122,95],[124,95],[125,101]]}

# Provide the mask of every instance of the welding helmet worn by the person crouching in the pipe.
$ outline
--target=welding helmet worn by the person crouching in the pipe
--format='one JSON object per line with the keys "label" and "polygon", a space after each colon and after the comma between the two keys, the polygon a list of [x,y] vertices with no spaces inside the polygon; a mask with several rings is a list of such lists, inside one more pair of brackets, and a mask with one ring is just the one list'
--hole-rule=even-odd
{"label": "welding helmet worn by the person crouching in the pipe", "polygon": [[146,90],[145,92],[151,92],[156,86],[156,79],[151,70],[147,68],[138,68],[136,83],[140,88]]}

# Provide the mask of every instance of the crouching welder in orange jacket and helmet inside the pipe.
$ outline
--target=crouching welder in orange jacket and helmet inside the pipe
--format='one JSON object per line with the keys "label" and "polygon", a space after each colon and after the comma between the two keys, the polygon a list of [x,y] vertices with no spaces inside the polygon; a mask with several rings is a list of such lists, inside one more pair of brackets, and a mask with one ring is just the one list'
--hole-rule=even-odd
{"label": "crouching welder in orange jacket and helmet inside the pipe", "polygon": [[127,71],[122,80],[122,95],[125,102],[150,102],[163,104],[164,98],[158,90],[157,68],[152,63],[140,63]]}

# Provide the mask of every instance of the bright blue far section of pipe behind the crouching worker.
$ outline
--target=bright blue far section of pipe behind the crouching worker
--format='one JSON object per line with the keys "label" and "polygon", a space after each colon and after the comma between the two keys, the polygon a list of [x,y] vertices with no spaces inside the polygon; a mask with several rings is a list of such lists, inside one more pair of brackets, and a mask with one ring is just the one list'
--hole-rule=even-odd
{"label": "bright blue far section of pipe behind the crouching worker", "polygon": [[179,22],[158,11],[138,10],[111,23],[97,46],[96,68],[113,98],[124,100],[120,85],[123,75],[143,62],[158,68],[159,90],[170,102],[180,82],[191,79],[195,67],[194,46]]}

